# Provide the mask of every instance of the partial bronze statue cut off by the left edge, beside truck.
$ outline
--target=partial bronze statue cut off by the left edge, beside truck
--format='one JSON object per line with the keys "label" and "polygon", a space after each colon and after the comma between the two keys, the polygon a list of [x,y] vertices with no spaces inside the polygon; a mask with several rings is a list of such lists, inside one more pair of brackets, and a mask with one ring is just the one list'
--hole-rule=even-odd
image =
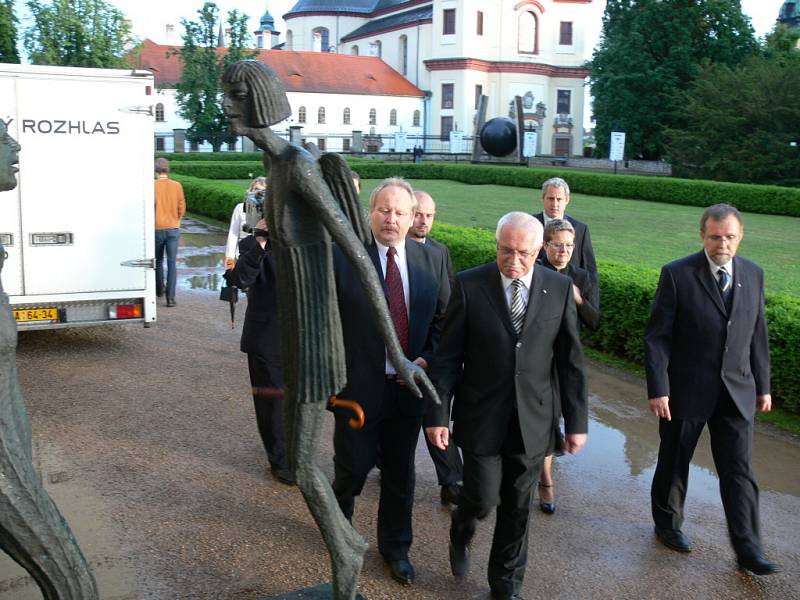
{"label": "partial bronze statue cut off by the left edge, beside truck", "polygon": [[[17,185],[19,144],[0,120],[0,191]],[[0,246],[0,271],[5,250]],[[33,467],[31,424],[17,381],[17,323],[0,281],[0,546],[45,600],[98,598],[72,531]]]}

